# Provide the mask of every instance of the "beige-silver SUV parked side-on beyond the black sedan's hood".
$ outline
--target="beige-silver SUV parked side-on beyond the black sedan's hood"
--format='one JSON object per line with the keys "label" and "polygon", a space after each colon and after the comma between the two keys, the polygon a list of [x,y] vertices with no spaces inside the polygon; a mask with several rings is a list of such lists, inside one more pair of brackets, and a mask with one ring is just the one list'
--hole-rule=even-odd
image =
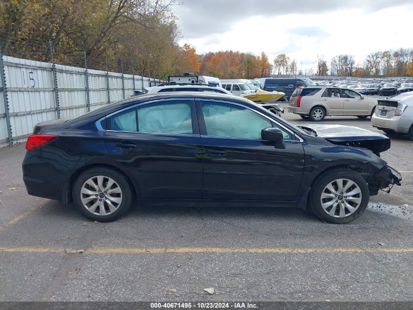
{"label": "beige-silver SUV parked side-on beyond the black sedan's hood", "polygon": [[329,115],[365,119],[374,113],[376,105],[376,98],[348,88],[306,86],[296,88],[291,95],[288,112],[313,121],[321,121]]}

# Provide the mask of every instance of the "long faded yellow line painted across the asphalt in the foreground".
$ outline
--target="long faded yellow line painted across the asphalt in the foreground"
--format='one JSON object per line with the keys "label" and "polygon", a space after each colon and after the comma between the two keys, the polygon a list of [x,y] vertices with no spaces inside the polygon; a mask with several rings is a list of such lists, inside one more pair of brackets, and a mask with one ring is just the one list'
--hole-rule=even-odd
{"label": "long faded yellow line painted across the asphalt in the foreground", "polygon": [[16,246],[0,247],[0,252],[31,253],[88,253],[88,254],[163,254],[163,253],[411,253],[413,248],[225,248],[225,247],[178,247],[178,248],[107,248],[70,249],[63,247]]}

